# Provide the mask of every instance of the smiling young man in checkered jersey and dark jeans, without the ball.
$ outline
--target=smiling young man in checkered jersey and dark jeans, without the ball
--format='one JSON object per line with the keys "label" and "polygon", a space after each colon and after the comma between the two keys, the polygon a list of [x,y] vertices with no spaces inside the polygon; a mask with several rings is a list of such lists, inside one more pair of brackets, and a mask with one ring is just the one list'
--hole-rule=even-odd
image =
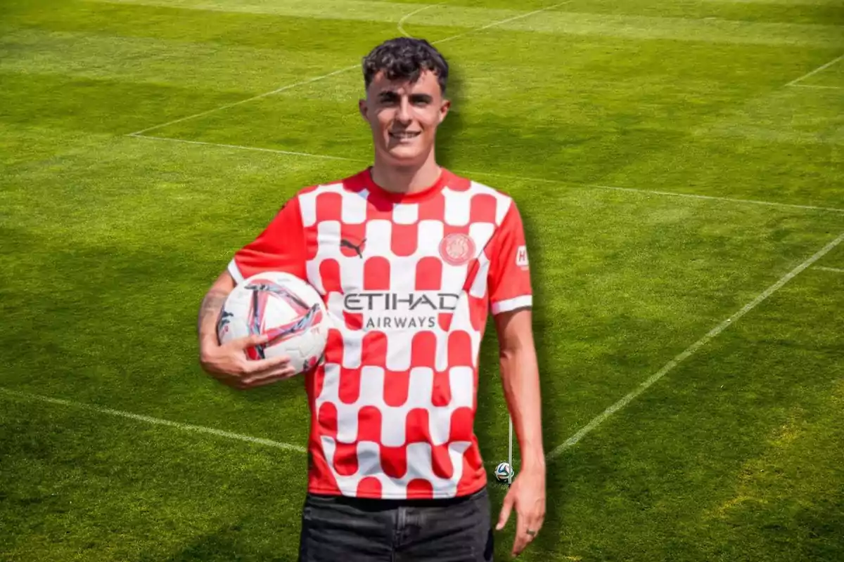
{"label": "smiling young man in checkered jersey and dark jeans, without the ball", "polygon": [[246,361],[262,336],[219,345],[235,283],[284,270],[317,288],[335,320],[325,361],[305,374],[311,407],[300,560],[491,560],[486,472],[474,436],[488,311],[522,467],[497,528],[517,512],[513,554],[545,510],[539,382],[522,221],[510,197],[435,159],[448,66],[425,40],[377,46],[360,115],[371,168],[300,190],[211,287],[201,363],[235,388],[292,376],[284,358]]}

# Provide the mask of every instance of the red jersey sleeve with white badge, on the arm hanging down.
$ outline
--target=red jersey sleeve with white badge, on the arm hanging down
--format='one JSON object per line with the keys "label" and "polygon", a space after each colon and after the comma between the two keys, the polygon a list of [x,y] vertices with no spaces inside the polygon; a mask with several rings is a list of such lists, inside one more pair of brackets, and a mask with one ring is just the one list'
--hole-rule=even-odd
{"label": "red jersey sleeve with white badge, on the arm hanging down", "polygon": [[527,265],[527,244],[522,216],[515,202],[511,202],[492,243],[488,280],[492,313],[530,307],[533,291]]}

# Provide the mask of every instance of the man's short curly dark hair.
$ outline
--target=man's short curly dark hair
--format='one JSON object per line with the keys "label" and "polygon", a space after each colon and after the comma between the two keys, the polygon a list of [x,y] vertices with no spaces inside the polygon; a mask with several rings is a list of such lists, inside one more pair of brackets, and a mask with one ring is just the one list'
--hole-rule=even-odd
{"label": "man's short curly dark hair", "polygon": [[448,62],[424,39],[397,37],[384,41],[364,57],[363,70],[366,88],[380,71],[384,71],[389,80],[416,82],[422,72],[430,70],[436,74],[442,93],[446,93]]}

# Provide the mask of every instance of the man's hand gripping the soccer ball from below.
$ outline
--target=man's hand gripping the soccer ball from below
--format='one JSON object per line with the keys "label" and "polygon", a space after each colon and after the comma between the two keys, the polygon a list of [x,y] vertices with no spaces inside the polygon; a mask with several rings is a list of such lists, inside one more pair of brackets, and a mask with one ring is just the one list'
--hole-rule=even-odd
{"label": "man's hand gripping the soccer ball from below", "polygon": [[199,364],[205,372],[231,388],[260,387],[290,377],[296,372],[290,367],[287,356],[251,360],[246,348],[267,343],[267,335],[247,335],[224,345],[204,342],[199,353]]}

